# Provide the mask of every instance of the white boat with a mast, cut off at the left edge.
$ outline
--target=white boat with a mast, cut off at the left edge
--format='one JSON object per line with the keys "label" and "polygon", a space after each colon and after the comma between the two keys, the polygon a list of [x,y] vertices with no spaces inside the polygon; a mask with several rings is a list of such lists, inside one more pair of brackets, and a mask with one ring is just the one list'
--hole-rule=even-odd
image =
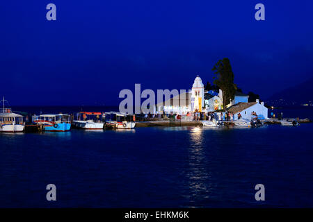
{"label": "white boat with a mast, cut off at the left edge", "polygon": [[24,131],[24,117],[12,112],[10,108],[5,108],[6,100],[2,99],[3,108],[0,112],[0,132],[3,133],[21,133]]}

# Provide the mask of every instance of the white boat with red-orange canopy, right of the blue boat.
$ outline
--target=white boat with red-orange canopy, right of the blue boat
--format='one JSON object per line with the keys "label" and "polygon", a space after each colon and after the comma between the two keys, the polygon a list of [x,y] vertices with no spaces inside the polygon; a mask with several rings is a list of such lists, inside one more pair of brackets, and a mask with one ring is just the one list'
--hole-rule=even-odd
{"label": "white boat with red-orange canopy, right of the blue boat", "polygon": [[79,112],[77,113],[77,120],[74,120],[72,124],[75,128],[84,130],[102,130],[104,128],[104,116],[102,112]]}

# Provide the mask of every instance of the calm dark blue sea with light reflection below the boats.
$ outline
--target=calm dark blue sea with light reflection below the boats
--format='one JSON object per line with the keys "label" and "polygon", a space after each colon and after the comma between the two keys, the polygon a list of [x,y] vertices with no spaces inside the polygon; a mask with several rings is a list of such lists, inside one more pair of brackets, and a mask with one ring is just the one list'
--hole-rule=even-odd
{"label": "calm dark blue sea with light reflection below the boats", "polygon": [[[312,130],[2,133],[0,207],[313,207]],[[49,183],[56,202],[46,200]]]}

